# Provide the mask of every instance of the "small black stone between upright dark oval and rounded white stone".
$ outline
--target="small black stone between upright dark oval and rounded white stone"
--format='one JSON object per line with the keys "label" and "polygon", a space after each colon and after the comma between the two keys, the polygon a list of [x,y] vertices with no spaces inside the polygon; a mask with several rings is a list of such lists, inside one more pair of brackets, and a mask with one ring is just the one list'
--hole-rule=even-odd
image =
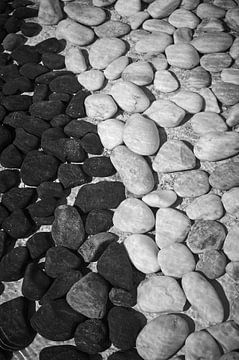
{"label": "small black stone between upright dark oval and rounded white stone", "polygon": [[91,210],[86,217],[86,233],[94,235],[109,230],[113,226],[112,218],[113,211],[111,210]]}

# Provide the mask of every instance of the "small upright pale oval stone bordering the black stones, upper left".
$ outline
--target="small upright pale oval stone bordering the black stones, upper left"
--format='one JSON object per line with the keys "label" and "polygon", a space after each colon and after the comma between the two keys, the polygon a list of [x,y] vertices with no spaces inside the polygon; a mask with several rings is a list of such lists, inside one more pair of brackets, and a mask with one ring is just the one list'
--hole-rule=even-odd
{"label": "small upright pale oval stone bordering the black stones, upper left", "polygon": [[65,65],[66,69],[74,74],[86,71],[87,65],[82,50],[76,46],[69,47],[65,54]]}

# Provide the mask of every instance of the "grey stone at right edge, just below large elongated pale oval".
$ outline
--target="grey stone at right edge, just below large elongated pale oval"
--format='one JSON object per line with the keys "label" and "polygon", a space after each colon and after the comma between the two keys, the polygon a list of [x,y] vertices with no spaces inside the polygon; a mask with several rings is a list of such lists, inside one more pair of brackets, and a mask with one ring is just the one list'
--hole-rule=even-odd
{"label": "grey stone at right edge, just below large elongated pale oval", "polygon": [[239,163],[227,162],[217,166],[209,176],[209,183],[220,190],[230,190],[239,186]]}

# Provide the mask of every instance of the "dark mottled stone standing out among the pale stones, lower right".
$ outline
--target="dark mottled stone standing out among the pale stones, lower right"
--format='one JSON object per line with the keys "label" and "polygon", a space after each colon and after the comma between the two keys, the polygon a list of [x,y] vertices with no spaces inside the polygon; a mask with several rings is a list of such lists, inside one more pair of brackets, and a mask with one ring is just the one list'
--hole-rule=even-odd
{"label": "dark mottled stone standing out among the pale stones, lower right", "polygon": [[188,237],[187,246],[194,254],[220,250],[225,240],[224,226],[215,220],[196,220]]}

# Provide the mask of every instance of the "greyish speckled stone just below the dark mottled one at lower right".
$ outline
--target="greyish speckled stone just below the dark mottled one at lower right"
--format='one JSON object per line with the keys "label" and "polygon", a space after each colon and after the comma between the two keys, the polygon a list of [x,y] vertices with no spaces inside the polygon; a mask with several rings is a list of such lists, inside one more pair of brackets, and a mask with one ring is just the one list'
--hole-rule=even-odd
{"label": "greyish speckled stone just below the dark mottled one at lower right", "polygon": [[225,273],[227,259],[223,252],[208,250],[202,253],[196,265],[196,271],[208,279],[217,279]]}

